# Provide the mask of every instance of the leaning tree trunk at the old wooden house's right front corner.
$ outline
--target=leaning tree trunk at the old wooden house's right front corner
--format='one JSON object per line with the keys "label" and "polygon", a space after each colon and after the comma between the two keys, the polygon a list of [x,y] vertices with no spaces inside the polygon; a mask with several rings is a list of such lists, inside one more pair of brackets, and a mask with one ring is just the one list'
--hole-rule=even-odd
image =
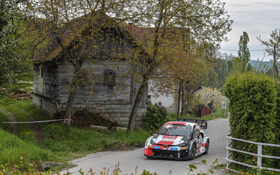
{"label": "leaning tree trunk at the old wooden house's right front corner", "polygon": [[133,104],[133,107],[132,107],[132,111],[130,113],[130,117],[129,117],[129,121],[128,121],[127,129],[130,130],[130,131],[134,130],[134,122],[135,122],[135,118],[136,118],[136,113],[137,113],[137,110],[139,108],[141,97],[143,95],[143,92],[145,92],[147,85],[148,85],[148,77],[143,77],[143,81],[142,81],[141,86],[140,86],[140,88],[137,92],[137,95],[135,97],[134,104]]}

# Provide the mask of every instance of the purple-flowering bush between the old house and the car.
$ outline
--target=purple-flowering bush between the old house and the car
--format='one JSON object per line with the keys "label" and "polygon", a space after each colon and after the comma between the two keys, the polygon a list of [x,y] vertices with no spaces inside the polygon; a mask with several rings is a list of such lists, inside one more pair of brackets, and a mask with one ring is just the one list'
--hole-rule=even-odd
{"label": "purple-flowering bush between the old house and the car", "polygon": [[167,109],[162,105],[161,101],[155,104],[148,101],[147,115],[142,117],[144,128],[151,130],[159,129],[161,125],[169,120],[166,118],[167,114]]}

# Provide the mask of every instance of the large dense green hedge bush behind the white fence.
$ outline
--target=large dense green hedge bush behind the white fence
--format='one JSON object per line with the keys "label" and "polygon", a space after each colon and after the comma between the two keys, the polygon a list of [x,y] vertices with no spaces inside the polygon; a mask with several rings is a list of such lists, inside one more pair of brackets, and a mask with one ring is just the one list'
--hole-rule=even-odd
{"label": "large dense green hedge bush behind the white fence", "polygon": [[[274,143],[276,118],[276,82],[264,75],[244,73],[230,76],[225,83],[228,97],[231,136],[239,139]],[[257,153],[257,145],[232,140],[232,148]],[[271,155],[268,147],[262,153]],[[232,152],[233,160],[255,165],[254,157]],[[269,167],[272,159],[263,159],[262,165]]]}

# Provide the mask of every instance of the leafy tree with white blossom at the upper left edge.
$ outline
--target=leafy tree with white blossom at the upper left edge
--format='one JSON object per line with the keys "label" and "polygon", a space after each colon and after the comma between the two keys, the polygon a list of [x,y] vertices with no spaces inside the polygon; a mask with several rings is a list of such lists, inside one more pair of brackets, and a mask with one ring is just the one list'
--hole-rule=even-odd
{"label": "leafy tree with white blossom at the upper left edge", "polygon": [[26,62],[26,32],[18,30],[22,23],[23,7],[26,0],[0,1],[0,86],[11,86],[13,83],[29,79],[32,74],[23,74],[30,65]]}

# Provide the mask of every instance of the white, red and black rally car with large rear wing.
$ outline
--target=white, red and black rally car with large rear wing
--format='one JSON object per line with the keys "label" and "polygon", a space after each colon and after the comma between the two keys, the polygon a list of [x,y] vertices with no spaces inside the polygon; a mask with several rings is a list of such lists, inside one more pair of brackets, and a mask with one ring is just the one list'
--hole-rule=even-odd
{"label": "white, red and black rally car with large rear wing", "polygon": [[198,155],[208,153],[209,137],[204,134],[204,129],[207,129],[205,120],[179,118],[175,122],[166,122],[157,134],[151,132],[144,155],[148,158],[194,160]]}

